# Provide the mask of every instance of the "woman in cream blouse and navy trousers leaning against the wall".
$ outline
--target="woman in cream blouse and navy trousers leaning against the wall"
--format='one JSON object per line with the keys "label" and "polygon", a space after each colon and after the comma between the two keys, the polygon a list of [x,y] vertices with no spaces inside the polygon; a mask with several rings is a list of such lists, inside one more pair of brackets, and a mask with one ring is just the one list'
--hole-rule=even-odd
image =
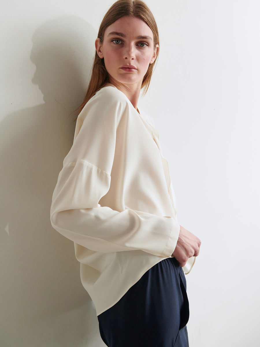
{"label": "woman in cream blouse and navy trousers leaning against the wall", "polygon": [[106,13],[74,142],[53,193],[52,226],[75,243],[83,286],[110,347],[188,346],[185,277],[200,240],[176,220],[167,161],[139,113],[159,52],[144,2]]}

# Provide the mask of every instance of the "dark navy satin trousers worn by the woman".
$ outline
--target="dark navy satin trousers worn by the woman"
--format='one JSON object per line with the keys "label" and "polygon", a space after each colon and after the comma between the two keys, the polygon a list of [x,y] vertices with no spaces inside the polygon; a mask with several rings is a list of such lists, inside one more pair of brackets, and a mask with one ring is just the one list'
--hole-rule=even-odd
{"label": "dark navy satin trousers worn by the woman", "polygon": [[175,258],[154,265],[98,316],[108,347],[189,347],[188,320],[185,275]]}

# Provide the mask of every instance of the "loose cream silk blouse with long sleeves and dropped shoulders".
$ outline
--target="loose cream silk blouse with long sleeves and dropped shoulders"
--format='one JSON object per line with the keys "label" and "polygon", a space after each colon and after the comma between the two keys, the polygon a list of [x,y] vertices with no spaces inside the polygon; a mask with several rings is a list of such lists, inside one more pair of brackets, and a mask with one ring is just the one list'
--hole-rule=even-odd
{"label": "loose cream silk blouse with long sleeves and dropped shoulders", "polygon": [[[175,249],[180,226],[158,133],[113,85],[99,90],[78,116],[51,223],[75,243],[97,315]],[[184,272],[193,263],[194,257]]]}

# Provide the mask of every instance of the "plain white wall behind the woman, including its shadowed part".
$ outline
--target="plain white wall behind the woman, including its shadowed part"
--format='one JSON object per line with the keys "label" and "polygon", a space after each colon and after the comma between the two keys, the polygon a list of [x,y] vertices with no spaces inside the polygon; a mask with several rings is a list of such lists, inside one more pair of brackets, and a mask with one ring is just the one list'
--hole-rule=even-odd
{"label": "plain white wall behind the woman, including its shadowed part", "polygon": [[[49,209],[111,3],[2,1],[1,346],[104,346]],[[159,130],[179,222],[202,240],[187,276],[190,347],[258,346],[259,1],[147,3],[161,52],[140,106]]]}

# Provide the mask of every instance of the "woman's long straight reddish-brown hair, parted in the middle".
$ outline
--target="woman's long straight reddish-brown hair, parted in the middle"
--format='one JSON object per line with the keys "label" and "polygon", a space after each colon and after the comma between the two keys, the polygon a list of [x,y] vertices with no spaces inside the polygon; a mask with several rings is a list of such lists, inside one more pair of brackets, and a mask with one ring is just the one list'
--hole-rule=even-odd
{"label": "woman's long straight reddish-brown hair, parted in the middle", "polygon": [[[158,28],[154,16],[148,6],[141,0],[118,0],[110,7],[110,9],[104,16],[98,31],[97,37],[100,39],[101,44],[104,40],[105,29],[113,24],[116,20],[124,16],[137,17],[142,19],[150,27],[151,31],[154,34],[154,48],[156,48],[156,44],[159,45]],[[151,75],[153,74],[155,61],[149,65],[148,70],[143,78],[141,86],[142,88],[144,88],[143,94],[145,94],[148,90],[151,81]],[[92,96],[95,95],[96,92],[101,89],[107,82],[109,82],[109,75],[105,68],[104,59],[99,58],[96,52],[87,93],[82,104],[76,110],[76,114],[80,113],[88,100],[91,99]]]}

